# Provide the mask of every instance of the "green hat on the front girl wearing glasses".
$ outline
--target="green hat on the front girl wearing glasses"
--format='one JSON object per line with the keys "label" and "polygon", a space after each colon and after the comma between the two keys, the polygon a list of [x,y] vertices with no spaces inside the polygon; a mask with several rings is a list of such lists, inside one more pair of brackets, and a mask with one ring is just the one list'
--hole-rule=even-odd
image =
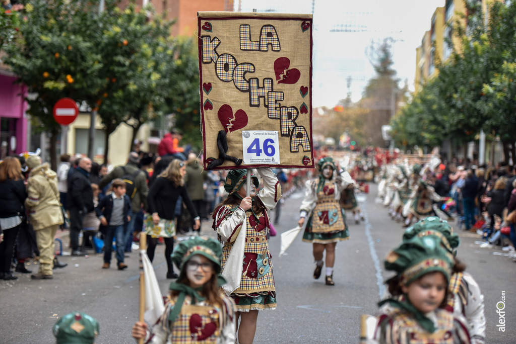
{"label": "green hat on the front girl wearing glasses", "polygon": [[207,236],[194,236],[179,242],[172,253],[172,262],[180,269],[180,278],[184,274],[184,265],[192,255],[201,254],[215,263],[215,271],[220,273],[222,247],[219,242]]}

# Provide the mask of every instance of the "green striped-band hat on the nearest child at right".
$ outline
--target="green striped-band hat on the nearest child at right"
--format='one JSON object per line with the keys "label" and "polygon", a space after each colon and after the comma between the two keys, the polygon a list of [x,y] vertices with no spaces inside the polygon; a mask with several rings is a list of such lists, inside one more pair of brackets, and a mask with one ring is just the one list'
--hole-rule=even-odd
{"label": "green striped-band hat on the nearest child at right", "polygon": [[413,237],[389,252],[385,269],[396,271],[399,282],[409,285],[426,273],[439,271],[449,281],[454,266],[454,256],[444,249],[436,236]]}

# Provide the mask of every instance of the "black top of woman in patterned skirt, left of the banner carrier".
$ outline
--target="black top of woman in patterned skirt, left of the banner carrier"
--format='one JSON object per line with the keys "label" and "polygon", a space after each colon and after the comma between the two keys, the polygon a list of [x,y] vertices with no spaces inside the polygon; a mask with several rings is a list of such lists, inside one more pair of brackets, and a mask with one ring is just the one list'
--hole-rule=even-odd
{"label": "black top of woman in patterned skirt, left of the banner carrier", "polygon": [[191,216],[197,217],[198,214],[193,208],[186,187],[184,185],[175,187],[174,183],[163,177],[156,178],[149,191],[149,213],[158,213],[160,218],[173,220],[175,218],[175,203],[180,195]]}

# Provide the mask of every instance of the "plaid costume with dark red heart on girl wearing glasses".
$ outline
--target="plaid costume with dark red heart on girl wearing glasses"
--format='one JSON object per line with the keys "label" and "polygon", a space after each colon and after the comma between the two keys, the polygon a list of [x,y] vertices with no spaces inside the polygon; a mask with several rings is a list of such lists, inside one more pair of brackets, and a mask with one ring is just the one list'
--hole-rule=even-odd
{"label": "plaid costume with dark red heart on girl wearing glasses", "polygon": [[234,344],[235,304],[231,298],[220,293],[223,305],[212,305],[207,301],[191,304],[186,296],[181,313],[171,322],[169,314],[175,306],[177,296],[168,296],[165,312],[148,332],[149,344]]}

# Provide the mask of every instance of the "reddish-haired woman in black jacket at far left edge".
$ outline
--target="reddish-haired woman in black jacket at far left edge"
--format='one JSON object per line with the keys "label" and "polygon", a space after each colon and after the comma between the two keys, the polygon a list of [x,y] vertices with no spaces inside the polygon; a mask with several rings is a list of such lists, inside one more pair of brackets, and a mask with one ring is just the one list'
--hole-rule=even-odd
{"label": "reddish-haired woman in black jacket at far left edge", "polygon": [[0,227],[4,233],[0,243],[0,278],[4,280],[18,278],[11,272],[11,260],[18,232],[25,221],[26,198],[20,161],[7,157],[0,164]]}

